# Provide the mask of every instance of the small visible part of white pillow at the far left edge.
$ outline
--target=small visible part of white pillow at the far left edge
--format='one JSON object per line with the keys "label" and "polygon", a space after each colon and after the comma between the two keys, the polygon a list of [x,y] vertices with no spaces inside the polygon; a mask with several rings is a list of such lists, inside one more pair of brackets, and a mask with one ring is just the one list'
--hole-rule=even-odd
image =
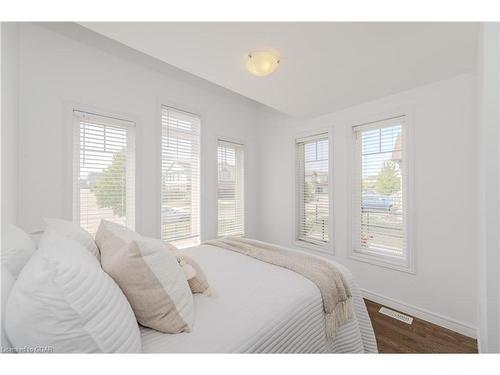
{"label": "small visible part of white pillow at the far left edge", "polygon": [[2,264],[14,279],[36,250],[35,241],[21,228],[8,224],[2,236]]}

